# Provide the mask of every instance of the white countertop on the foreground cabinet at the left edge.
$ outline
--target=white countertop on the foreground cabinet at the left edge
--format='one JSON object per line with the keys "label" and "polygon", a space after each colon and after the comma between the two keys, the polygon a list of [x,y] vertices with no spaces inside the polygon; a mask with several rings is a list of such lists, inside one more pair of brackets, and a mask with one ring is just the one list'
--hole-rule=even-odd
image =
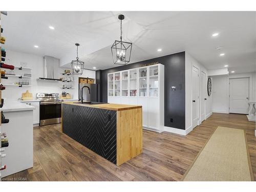
{"label": "white countertop on the foreground cabinet at the left edge", "polygon": [[30,110],[35,110],[35,107],[25,103],[20,103],[17,101],[9,101],[9,102],[4,102],[4,106],[0,110],[3,112],[30,111]]}

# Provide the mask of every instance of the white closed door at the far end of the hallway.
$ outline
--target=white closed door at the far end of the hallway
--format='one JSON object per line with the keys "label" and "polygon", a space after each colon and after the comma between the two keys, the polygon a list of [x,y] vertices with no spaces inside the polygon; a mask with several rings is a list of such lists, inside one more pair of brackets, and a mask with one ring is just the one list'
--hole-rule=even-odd
{"label": "white closed door at the far end of the hallway", "polygon": [[229,113],[248,114],[249,78],[229,79]]}

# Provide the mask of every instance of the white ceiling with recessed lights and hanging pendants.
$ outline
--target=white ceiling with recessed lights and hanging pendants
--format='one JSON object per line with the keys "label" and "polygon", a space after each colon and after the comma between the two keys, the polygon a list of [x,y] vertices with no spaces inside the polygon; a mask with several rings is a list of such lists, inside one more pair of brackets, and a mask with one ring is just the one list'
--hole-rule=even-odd
{"label": "white ceiling with recessed lights and hanging pendants", "polygon": [[[255,71],[255,12],[122,13],[123,38],[133,42],[131,63],[185,50],[206,69],[229,65],[229,71],[236,73]],[[118,14],[8,12],[2,16],[6,49],[54,56],[68,67],[76,56],[74,44],[79,42],[79,57],[87,69],[112,68],[111,45],[120,37]],[[219,36],[212,37],[214,32]],[[219,46],[224,49],[216,50]],[[162,51],[157,52],[158,48]],[[220,57],[222,52],[225,56]]]}

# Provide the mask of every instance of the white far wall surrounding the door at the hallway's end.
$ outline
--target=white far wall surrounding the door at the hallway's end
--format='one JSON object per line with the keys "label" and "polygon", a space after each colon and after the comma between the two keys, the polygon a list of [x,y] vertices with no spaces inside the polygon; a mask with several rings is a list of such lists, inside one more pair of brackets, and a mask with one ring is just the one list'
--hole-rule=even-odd
{"label": "white far wall surrounding the door at the hallway's end", "polygon": [[249,98],[255,101],[255,72],[212,77],[212,112],[229,113],[229,79],[249,78]]}

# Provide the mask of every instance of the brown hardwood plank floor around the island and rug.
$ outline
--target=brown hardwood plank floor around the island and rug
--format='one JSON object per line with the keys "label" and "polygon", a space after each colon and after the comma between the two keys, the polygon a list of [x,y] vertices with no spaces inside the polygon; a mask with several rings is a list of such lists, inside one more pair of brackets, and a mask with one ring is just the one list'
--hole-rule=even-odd
{"label": "brown hardwood plank floor around the island and rug", "polygon": [[34,127],[34,167],[5,177],[27,181],[179,181],[217,126],[246,130],[256,179],[255,123],[245,115],[214,113],[186,136],[143,130],[143,153],[116,166],[60,132]]}

